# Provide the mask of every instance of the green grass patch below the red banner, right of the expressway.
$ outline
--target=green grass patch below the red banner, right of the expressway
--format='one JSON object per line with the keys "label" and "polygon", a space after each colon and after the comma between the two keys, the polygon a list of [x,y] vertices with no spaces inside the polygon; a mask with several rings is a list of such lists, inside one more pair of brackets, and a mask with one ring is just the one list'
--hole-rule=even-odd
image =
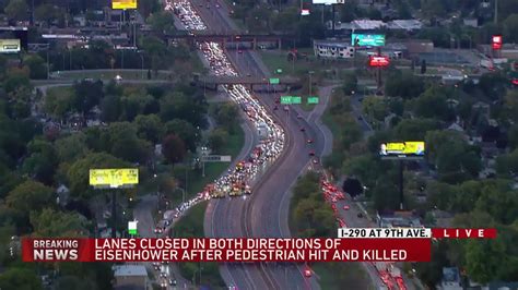
{"label": "green grass patch below the red banner, right of the expressway", "polygon": [[319,276],[321,289],[375,289],[358,263],[316,263],[311,266]]}

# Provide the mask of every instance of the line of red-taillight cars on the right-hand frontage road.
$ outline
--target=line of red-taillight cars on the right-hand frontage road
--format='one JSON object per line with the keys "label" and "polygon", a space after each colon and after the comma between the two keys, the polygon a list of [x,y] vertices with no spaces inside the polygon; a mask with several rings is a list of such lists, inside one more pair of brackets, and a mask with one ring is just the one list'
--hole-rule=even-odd
{"label": "line of red-taillight cars on the right-hand frontage road", "polygon": [[[334,218],[337,219],[340,228],[346,228],[345,220],[340,216],[340,208],[338,205],[339,201],[345,200],[345,194],[341,192],[332,182],[329,181],[327,176],[323,173],[320,179],[320,189],[322,191],[323,200],[331,205]],[[349,210],[349,205],[343,205],[343,210]],[[358,218],[362,218],[362,213],[357,214]],[[407,290],[401,271],[395,267],[392,263],[370,263],[377,270],[379,279],[387,287],[387,289],[400,289]],[[396,287],[397,286],[397,287]]]}

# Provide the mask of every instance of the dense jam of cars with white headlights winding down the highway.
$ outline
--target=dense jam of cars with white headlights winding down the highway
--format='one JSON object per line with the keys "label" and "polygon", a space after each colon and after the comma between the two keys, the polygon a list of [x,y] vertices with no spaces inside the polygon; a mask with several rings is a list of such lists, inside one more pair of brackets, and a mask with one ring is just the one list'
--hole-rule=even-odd
{"label": "dense jam of cars with white headlights winding down the highway", "polygon": [[[191,3],[186,0],[165,2],[166,11],[174,11],[187,31],[203,31],[207,26],[193,10]],[[210,64],[211,72],[216,76],[237,76],[237,72],[226,57],[223,48],[215,43],[202,41],[198,48]],[[269,164],[281,154],[285,136],[284,130],[272,119],[264,106],[262,106],[248,89],[243,85],[225,85],[223,89],[228,94],[243,110],[249,122],[259,134],[259,143],[256,144],[250,155],[245,160],[239,160],[233,168],[207,184],[202,192],[193,198],[181,203],[173,210],[164,213],[164,219],[158,221],[154,230],[157,235],[167,234],[172,222],[181,217],[189,208],[201,201],[210,198],[233,197],[251,194],[251,183]]]}

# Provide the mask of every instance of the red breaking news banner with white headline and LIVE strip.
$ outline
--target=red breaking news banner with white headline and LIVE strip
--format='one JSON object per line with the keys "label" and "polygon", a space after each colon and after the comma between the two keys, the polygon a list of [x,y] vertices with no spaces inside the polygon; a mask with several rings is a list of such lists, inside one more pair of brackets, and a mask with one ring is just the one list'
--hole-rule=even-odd
{"label": "red breaking news banner with white headline and LIVE strip", "polygon": [[[452,231],[451,231],[452,230]],[[23,239],[24,262],[429,262],[431,238],[494,229],[339,229],[340,239]]]}

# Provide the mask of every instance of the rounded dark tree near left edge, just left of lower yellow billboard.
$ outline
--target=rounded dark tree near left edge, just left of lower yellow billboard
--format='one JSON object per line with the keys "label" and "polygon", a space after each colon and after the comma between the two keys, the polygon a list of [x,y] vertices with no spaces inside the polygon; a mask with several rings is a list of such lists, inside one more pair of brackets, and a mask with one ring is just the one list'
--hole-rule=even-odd
{"label": "rounded dark tree near left edge, just left of lower yellow billboard", "polygon": [[5,204],[24,215],[54,203],[54,190],[36,181],[27,180],[8,193]]}

